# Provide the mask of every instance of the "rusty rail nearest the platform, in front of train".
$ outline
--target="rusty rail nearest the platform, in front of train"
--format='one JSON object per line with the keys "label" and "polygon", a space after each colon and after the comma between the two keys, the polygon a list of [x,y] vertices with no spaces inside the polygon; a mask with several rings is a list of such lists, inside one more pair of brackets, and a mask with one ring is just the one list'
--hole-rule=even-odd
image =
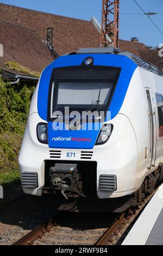
{"label": "rusty rail nearest the platform, in front of train", "polygon": [[120,225],[125,223],[126,218],[124,217],[124,212],[116,218],[114,223],[110,225],[108,229],[104,232],[104,234],[99,237],[99,239],[96,241],[95,245],[108,245],[108,242],[110,241],[111,237],[117,232]]}

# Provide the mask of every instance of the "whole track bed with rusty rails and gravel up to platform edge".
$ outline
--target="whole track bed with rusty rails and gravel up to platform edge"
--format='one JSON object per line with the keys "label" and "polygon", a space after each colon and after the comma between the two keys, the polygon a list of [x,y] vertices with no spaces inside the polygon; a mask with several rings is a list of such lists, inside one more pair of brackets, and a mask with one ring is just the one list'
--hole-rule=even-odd
{"label": "whole track bed with rusty rails and gravel up to platform edge", "polygon": [[[122,230],[118,239],[121,238],[156,190],[157,188],[133,212],[130,209],[122,214],[105,215],[59,212],[12,245],[111,245],[112,238]],[[115,239],[116,242],[118,239]]]}

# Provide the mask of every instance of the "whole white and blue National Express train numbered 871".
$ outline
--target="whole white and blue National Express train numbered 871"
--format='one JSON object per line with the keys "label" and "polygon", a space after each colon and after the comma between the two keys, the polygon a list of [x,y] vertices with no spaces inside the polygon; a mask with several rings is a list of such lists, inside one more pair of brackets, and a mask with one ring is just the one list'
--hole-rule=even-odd
{"label": "whole white and blue National Express train numbered 871", "polygon": [[[131,53],[81,48],[56,59],[30,105],[18,157],[23,191],[140,203],[163,178],[162,96],[163,72]],[[104,120],[99,129],[67,129],[64,115],[63,129],[53,129],[65,107],[103,111]]]}

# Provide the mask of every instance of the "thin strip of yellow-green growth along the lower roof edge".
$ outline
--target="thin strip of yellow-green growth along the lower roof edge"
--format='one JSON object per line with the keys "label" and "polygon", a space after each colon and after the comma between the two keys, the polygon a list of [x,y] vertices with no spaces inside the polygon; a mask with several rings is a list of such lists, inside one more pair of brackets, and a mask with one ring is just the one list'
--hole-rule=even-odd
{"label": "thin strip of yellow-green growth along the lower roof edge", "polygon": [[18,72],[22,72],[24,74],[34,76],[34,77],[40,77],[40,72],[32,71],[28,69],[26,66],[22,66],[21,64],[18,64],[17,62],[5,62],[4,63],[9,69],[16,70]]}

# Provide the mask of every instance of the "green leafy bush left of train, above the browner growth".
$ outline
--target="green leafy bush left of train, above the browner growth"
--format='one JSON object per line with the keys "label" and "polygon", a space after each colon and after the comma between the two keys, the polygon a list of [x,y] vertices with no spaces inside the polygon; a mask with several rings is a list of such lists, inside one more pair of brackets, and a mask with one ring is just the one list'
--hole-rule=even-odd
{"label": "green leafy bush left of train, above the browner growth", "polygon": [[34,86],[5,83],[0,78],[0,133],[22,134]]}

